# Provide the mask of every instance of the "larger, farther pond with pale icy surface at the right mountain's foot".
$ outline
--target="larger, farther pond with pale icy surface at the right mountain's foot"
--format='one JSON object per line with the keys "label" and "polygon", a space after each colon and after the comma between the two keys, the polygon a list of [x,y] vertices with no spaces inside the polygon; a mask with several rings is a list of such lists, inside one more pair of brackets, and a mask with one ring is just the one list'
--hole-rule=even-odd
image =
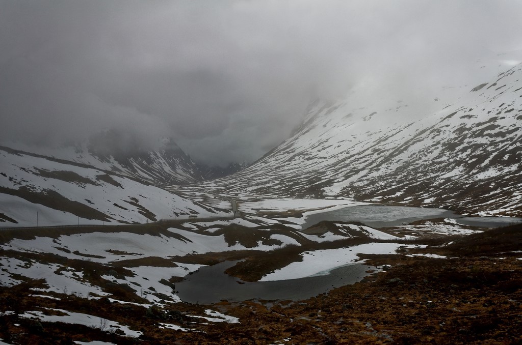
{"label": "larger, farther pond with pale icy surface at the right mountain's foot", "polygon": [[360,205],[339,208],[339,210],[311,214],[306,218],[303,229],[323,220],[359,221],[373,228],[393,227],[412,221],[433,218],[457,218],[458,214],[442,208],[408,206]]}

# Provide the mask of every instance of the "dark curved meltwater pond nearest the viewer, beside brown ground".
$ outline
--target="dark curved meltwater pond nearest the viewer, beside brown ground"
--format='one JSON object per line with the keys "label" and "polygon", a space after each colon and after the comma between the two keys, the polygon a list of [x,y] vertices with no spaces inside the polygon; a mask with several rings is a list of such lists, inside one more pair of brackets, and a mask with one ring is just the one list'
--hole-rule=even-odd
{"label": "dark curved meltwater pond nearest the viewer, beside brown ground", "polygon": [[217,303],[220,300],[238,302],[246,300],[303,300],[333,288],[354,284],[375,267],[353,264],[335,268],[324,275],[300,279],[244,282],[224,273],[238,261],[225,261],[199,268],[176,283],[177,295],[184,302]]}

